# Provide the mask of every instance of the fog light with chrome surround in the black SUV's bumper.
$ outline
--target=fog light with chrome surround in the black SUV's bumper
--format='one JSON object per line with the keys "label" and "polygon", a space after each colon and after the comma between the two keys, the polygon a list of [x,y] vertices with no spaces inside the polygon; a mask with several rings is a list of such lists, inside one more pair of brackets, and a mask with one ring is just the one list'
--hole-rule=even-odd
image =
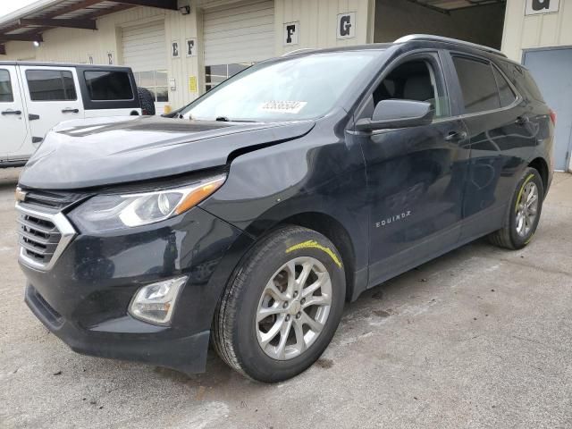
{"label": "fog light with chrome surround in the black SUV's bumper", "polygon": [[176,277],[143,286],[131,299],[130,315],[151,324],[170,324],[175,301],[187,279]]}

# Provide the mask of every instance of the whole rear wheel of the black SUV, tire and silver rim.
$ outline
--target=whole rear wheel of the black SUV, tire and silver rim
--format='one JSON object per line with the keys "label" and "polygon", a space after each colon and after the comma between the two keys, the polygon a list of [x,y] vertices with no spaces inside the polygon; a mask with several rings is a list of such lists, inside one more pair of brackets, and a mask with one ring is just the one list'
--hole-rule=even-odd
{"label": "whole rear wheel of the black SUV, tire and silver rim", "polygon": [[501,248],[524,248],[532,240],[543,209],[544,187],[540,173],[527,168],[517,183],[503,227],[489,236]]}

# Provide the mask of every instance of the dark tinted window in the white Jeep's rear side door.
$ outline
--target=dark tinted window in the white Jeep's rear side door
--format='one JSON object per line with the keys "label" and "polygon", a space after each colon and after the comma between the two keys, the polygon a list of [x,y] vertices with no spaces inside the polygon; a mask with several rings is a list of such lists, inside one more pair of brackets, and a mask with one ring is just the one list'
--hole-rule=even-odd
{"label": "dark tinted window in the white Jeep's rear side door", "polygon": [[76,100],[71,71],[28,70],[29,97],[32,101]]}

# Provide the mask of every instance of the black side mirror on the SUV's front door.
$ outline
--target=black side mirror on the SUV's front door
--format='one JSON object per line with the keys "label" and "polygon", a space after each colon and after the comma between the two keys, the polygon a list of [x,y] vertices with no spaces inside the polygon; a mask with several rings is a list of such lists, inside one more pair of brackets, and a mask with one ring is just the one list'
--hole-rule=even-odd
{"label": "black side mirror on the SUV's front door", "polygon": [[356,122],[356,129],[373,131],[418,127],[430,124],[434,116],[433,107],[425,101],[383,100],[375,106],[372,119],[360,119]]}

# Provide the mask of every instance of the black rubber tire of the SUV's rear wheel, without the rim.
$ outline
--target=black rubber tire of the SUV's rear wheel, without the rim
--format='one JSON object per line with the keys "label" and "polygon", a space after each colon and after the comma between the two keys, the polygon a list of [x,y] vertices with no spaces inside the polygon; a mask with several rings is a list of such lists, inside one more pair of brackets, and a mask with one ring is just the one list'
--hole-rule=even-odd
{"label": "black rubber tire of the SUV's rear wheel, without the rim", "polygon": [[[533,182],[534,185],[536,185],[536,189],[538,189],[538,206],[530,231],[525,235],[520,235],[517,232],[517,207],[521,202],[523,190],[529,182]],[[538,227],[538,222],[540,221],[540,216],[543,211],[543,199],[544,186],[540,173],[534,168],[526,168],[525,172],[522,173],[522,176],[517,182],[517,187],[512,199],[510,200],[509,210],[507,210],[507,214],[505,214],[502,228],[498,231],[492,232],[488,237],[489,241],[500,248],[509,248],[511,250],[524,248],[530,240],[532,240],[534,232]]]}

